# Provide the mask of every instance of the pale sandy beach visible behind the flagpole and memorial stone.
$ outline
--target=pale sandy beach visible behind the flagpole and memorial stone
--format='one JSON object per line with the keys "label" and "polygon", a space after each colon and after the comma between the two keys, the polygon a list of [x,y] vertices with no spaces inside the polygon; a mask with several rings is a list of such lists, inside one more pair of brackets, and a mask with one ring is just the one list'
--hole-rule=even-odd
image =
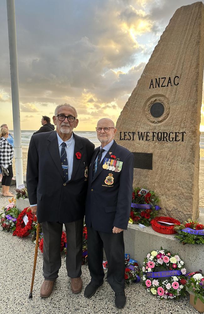
{"label": "pale sandy beach visible behind the flagpole and memorial stone", "polygon": [[[23,173],[26,174],[26,165],[27,165],[27,154],[28,148],[23,147]],[[200,149],[200,156],[201,158],[204,157],[204,149]],[[13,172],[15,175],[15,159],[13,159]],[[199,176],[199,195],[200,201],[199,206],[204,208],[204,160],[200,159],[200,176]]]}

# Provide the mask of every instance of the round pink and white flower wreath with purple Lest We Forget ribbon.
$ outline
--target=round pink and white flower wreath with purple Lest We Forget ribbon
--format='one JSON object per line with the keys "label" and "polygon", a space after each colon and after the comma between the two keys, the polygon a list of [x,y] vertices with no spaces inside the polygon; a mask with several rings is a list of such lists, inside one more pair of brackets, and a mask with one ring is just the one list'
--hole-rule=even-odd
{"label": "round pink and white flower wreath with purple Lest We Forget ribbon", "polygon": [[181,258],[168,250],[152,251],[144,259],[142,284],[161,299],[185,295],[186,269]]}

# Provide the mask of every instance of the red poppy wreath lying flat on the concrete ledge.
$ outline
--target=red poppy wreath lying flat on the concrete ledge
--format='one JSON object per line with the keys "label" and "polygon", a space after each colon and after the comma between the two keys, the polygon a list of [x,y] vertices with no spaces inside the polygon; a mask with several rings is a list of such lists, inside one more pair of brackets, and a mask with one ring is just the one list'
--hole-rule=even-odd
{"label": "red poppy wreath lying flat on the concrete ledge", "polygon": [[155,217],[154,219],[152,219],[150,221],[150,224],[152,225],[152,229],[158,233],[163,233],[166,235],[171,235],[176,233],[176,231],[174,230],[174,225],[169,225],[169,226],[164,226],[164,225],[160,225],[158,223],[158,221],[164,221],[164,222],[169,222],[172,223],[174,225],[180,225],[180,221],[171,217]]}

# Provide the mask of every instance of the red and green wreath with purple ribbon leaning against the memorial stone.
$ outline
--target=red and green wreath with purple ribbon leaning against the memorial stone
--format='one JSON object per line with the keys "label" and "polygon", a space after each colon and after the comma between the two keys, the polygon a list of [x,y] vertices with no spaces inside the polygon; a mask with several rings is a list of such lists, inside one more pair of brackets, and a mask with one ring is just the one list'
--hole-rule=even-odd
{"label": "red and green wreath with purple ribbon leaning against the memorial stone", "polygon": [[154,191],[136,187],[132,192],[132,204],[129,223],[150,226],[151,219],[158,215],[159,198]]}

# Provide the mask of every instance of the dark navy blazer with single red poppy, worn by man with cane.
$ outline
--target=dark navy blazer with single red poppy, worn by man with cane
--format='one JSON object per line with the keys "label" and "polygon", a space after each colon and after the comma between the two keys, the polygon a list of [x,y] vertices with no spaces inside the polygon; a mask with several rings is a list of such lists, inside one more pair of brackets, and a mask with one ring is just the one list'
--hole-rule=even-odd
{"label": "dark navy blazer with single red poppy, worn by man with cane", "polygon": [[[71,179],[64,181],[56,131],[31,137],[26,185],[30,204],[37,204],[38,222],[72,222],[84,217],[89,167],[94,144],[74,134]],[[77,159],[76,153],[81,153]]]}

